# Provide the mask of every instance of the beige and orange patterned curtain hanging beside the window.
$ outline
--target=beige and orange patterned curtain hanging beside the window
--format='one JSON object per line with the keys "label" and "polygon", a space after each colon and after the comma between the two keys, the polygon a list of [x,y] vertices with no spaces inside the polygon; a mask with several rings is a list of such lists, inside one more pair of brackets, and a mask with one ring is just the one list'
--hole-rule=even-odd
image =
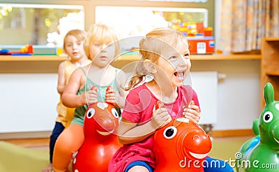
{"label": "beige and orange patterned curtain hanging beside the window", "polygon": [[279,0],[223,0],[221,14],[224,52],[260,50],[262,38],[279,37]]}

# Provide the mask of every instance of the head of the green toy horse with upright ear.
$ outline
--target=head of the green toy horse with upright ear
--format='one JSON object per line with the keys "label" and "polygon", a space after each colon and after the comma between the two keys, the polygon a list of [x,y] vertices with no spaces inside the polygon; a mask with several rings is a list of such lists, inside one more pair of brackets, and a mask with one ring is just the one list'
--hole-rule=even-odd
{"label": "head of the green toy horse with upright ear", "polygon": [[274,90],[270,83],[264,87],[264,100],[266,106],[259,118],[260,141],[279,150],[279,101],[274,100]]}

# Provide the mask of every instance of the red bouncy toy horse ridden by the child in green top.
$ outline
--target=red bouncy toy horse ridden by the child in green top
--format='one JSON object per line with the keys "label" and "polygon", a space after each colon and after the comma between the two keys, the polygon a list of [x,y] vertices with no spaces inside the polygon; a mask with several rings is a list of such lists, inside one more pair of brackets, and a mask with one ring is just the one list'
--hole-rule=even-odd
{"label": "red bouncy toy horse ridden by the child in green top", "polygon": [[107,172],[112,155],[121,147],[116,135],[118,125],[119,114],[113,104],[89,104],[84,115],[85,139],[73,155],[73,171]]}

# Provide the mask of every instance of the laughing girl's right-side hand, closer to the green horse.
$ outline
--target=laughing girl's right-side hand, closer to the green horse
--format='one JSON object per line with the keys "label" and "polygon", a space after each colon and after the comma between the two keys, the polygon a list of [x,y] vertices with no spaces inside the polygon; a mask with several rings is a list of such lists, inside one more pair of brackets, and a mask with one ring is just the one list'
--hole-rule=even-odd
{"label": "laughing girl's right-side hand, closer to the green horse", "polygon": [[199,122],[200,111],[199,107],[195,105],[194,100],[191,100],[188,106],[183,107],[183,116],[185,116],[185,118],[193,120],[195,123]]}

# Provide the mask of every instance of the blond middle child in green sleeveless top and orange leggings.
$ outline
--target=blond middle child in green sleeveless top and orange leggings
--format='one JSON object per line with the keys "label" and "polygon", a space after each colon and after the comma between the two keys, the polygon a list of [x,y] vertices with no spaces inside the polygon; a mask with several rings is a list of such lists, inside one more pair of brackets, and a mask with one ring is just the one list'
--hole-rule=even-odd
{"label": "blond middle child in green sleeveless top and orange leggings", "polygon": [[[110,65],[114,55],[119,52],[114,31],[104,24],[95,24],[87,31],[84,51],[92,63],[77,68],[63,92],[62,101],[67,107],[74,107],[75,116],[70,126],[56,141],[54,148],[53,169],[56,172],[67,171],[73,153],[84,142],[84,114],[87,104],[110,102],[116,107],[123,107],[125,97],[121,70]],[[113,42],[113,43],[112,43]],[[106,91],[107,86],[112,89]]]}

